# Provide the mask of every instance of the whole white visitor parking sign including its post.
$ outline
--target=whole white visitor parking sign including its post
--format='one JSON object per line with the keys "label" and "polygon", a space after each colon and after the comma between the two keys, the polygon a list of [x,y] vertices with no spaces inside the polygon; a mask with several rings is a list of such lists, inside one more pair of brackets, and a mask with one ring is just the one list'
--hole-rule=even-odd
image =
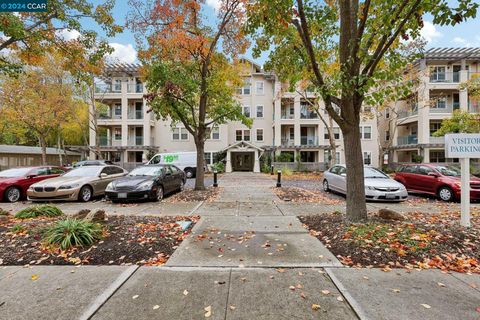
{"label": "whole white visitor parking sign including its post", "polygon": [[480,134],[445,135],[445,157],[460,159],[462,198],[460,225],[470,227],[470,158],[480,158]]}

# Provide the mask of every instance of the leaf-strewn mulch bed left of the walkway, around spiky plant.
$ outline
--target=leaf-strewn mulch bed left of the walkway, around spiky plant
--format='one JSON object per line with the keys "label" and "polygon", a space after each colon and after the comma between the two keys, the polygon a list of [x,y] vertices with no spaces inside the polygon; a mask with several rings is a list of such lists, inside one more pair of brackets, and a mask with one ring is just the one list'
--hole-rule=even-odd
{"label": "leaf-strewn mulch bed left of the walkway, around spiky plant", "polygon": [[[199,217],[109,216],[104,238],[86,248],[62,251],[41,242],[41,228],[58,218],[0,223],[0,265],[162,265],[188,234]],[[176,223],[190,220],[182,231]],[[22,230],[12,231],[14,226]],[[18,229],[18,227],[16,227]]]}

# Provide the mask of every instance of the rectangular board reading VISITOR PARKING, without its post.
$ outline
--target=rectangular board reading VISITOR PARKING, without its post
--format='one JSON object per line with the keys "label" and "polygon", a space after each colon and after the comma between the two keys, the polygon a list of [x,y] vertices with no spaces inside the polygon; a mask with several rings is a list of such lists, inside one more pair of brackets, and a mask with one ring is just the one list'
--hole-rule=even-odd
{"label": "rectangular board reading VISITOR PARKING, without its post", "polygon": [[446,158],[480,158],[480,134],[454,133],[445,135]]}

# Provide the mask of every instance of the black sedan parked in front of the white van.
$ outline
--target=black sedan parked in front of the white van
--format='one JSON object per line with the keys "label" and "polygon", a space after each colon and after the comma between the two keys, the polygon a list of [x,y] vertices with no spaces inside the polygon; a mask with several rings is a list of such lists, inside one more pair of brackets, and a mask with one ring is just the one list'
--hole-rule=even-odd
{"label": "black sedan parked in front of the white van", "polygon": [[110,182],[105,194],[112,202],[140,199],[160,201],[167,193],[183,190],[185,182],[185,173],[176,166],[146,165]]}

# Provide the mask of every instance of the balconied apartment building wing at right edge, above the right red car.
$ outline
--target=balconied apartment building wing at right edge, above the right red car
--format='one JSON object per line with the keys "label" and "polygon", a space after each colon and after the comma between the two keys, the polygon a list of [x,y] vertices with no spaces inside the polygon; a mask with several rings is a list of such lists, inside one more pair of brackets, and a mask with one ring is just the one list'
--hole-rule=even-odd
{"label": "balconied apartment building wing at right edge, above the right red car", "polygon": [[391,163],[454,161],[445,158],[444,138],[433,133],[454,110],[480,112],[478,102],[460,88],[462,82],[480,76],[479,62],[480,48],[430,49],[418,61],[416,90],[383,111],[380,139],[389,146]]}

